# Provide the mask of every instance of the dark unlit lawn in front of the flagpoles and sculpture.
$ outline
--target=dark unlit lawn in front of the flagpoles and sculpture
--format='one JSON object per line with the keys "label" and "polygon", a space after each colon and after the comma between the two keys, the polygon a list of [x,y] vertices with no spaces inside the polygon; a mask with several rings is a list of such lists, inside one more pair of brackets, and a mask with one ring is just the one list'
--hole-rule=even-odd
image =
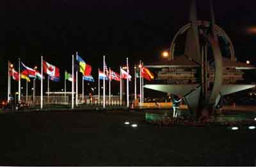
{"label": "dark unlit lawn in front of the flagpoles and sculpture", "polygon": [[1,113],[0,134],[0,166],[255,166],[256,161],[256,131],[156,127],[145,123],[142,113]]}

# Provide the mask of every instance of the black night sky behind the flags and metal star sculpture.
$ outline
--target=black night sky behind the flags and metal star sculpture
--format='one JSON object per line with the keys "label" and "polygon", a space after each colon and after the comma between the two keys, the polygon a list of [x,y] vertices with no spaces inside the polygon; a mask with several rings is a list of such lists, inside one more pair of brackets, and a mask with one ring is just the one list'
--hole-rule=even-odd
{"label": "black night sky behind the flags and metal star sculpture", "polygon": [[[6,97],[7,60],[26,65],[49,63],[71,72],[71,55],[79,51],[93,67],[116,71],[129,57],[131,64],[159,60],[159,51],[170,47],[175,33],[189,18],[188,0],[179,1],[8,1],[1,5],[0,97]],[[256,61],[255,1],[214,1],[216,24],[230,36],[238,60]],[[198,17],[209,20],[209,1],[198,1]],[[256,64],[256,63],[255,63]],[[14,82],[14,81],[13,81]],[[52,83],[53,90],[63,87]],[[22,85],[25,86],[24,82]],[[97,86],[97,83],[95,83]],[[15,84],[14,90],[17,89]]]}

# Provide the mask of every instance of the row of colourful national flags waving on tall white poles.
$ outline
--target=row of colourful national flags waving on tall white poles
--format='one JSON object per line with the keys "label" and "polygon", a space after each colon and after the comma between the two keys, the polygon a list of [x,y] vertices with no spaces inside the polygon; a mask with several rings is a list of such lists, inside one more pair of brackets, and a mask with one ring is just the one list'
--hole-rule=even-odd
{"label": "row of colourful national flags waving on tall white poles", "polygon": [[[80,56],[77,55],[77,70],[83,74],[84,81],[94,82],[95,80],[91,76],[92,67],[88,65]],[[11,63],[10,63],[11,64]],[[120,74],[114,72],[110,68],[108,69],[106,63],[104,63],[105,74],[101,70],[99,70],[99,79],[103,80],[110,80],[110,81],[120,81],[120,78],[127,79],[131,81],[131,75],[127,73],[124,69],[120,68]],[[140,77],[140,69],[136,68],[136,77]],[[9,70],[10,76],[12,76],[13,80],[19,81],[19,72],[17,72],[13,67]],[[47,61],[43,61],[43,72],[49,76],[51,81],[59,82],[60,81],[60,69]],[[20,62],[20,79],[25,79],[26,81],[30,82],[30,79],[39,79],[41,80],[45,78],[38,72],[38,70],[29,68],[24,63]],[[141,67],[141,77],[144,77],[148,81],[154,79],[154,74],[148,70],[146,67]],[[65,71],[65,80],[72,82],[72,74],[69,74]],[[76,79],[74,79],[76,81]]]}

